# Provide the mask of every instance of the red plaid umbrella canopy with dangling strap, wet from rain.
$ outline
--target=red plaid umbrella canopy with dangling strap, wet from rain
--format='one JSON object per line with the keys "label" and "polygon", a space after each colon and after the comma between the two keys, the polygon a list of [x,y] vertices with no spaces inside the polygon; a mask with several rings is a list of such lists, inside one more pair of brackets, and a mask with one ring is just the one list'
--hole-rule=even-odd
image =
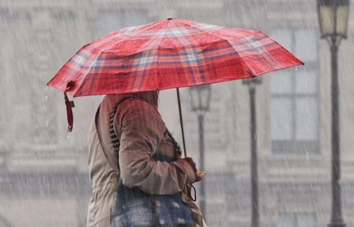
{"label": "red plaid umbrella canopy with dangling strap, wet from rain", "polygon": [[168,18],[84,45],[47,85],[73,97],[211,84],[303,65],[261,31]]}

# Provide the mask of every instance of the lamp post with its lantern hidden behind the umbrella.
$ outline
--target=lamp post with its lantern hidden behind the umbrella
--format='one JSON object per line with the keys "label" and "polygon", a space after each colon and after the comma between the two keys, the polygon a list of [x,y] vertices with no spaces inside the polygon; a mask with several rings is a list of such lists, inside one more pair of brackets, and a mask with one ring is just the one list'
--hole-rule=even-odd
{"label": "lamp post with its lantern hidden behind the umbrella", "polygon": [[248,86],[250,101],[250,133],[251,133],[251,200],[252,200],[252,220],[251,227],[259,226],[259,204],[258,204],[258,171],[257,171],[257,125],[255,111],[255,91],[256,86],[261,84],[260,78],[242,80],[242,84]]}

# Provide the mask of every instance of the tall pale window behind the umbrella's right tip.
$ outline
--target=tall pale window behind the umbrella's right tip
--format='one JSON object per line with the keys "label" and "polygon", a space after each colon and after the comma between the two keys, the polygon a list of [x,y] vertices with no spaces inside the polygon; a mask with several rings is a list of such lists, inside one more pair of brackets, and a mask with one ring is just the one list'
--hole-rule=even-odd
{"label": "tall pale window behind the umbrella's right tip", "polygon": [[318,153],[317,34],[315,30],[278,30],[271,35],[305,63],[273,72],[271,138],[274,153]]}

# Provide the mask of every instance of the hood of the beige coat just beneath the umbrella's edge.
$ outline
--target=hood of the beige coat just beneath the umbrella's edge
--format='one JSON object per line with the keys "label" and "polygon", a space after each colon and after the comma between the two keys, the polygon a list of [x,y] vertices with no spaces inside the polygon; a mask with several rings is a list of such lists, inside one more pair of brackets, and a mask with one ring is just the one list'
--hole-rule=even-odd
{"label": "hood of the beige coat just beneath the umbrella's edge", "polygon": [[120,99],[127,97],[138,97],[146,100],[150,103],[156,110],[158,108],[158,92],[157,91],[143,91],[143,92],[134,92],[134,93],[125,93],[125,94],[108,94],[104,97],[106,101],[111,103],[113,106]]}

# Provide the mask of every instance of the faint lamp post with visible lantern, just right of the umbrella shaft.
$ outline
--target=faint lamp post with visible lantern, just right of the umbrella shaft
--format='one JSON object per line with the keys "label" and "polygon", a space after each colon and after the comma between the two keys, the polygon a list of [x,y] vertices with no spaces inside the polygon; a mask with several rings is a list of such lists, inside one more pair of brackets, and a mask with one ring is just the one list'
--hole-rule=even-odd
{"label": "faint lamp post with visible lantern, just right of the umbrella shaft", "polygon": [[[211,87],[209,84],[190,87],[192,111],[198,115],[199,132],[199,169],[204,171],[204,113],[209,110]],[[204,181],[200,181],[200,209],[205,212],[205,187]]]}

